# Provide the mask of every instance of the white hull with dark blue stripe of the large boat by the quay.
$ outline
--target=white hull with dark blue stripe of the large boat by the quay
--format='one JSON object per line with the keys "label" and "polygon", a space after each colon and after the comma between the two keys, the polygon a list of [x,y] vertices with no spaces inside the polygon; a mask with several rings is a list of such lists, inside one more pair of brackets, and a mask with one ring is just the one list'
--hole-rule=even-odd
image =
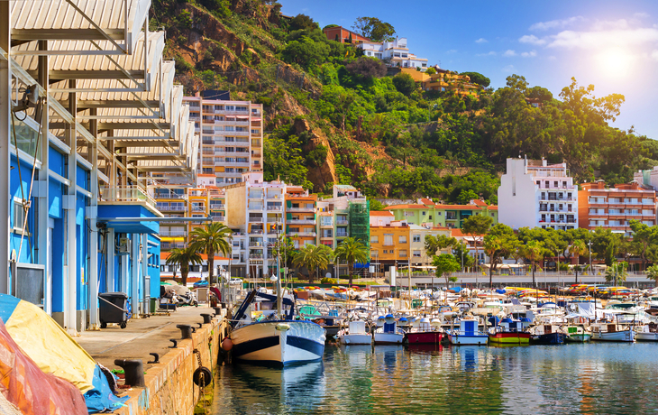
{"label": "white hull with dark blue stripe of the large boat by the quay", "polygon": [[310,321],[279,320],[238,327],[231,339],[234,359],[285,366],[322,359],[326,335]]}

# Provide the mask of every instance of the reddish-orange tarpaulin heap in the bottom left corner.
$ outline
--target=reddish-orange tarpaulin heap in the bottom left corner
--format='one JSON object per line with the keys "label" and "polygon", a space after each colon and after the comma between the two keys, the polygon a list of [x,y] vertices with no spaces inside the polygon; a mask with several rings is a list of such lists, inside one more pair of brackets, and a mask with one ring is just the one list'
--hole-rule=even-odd
{"label": "reddish-orange tarpaulin heap in the bottom left corner", "polygon": [[0,320],[0,392],[27,415],[86,415],[82,393],[43,371],[9,335]]}

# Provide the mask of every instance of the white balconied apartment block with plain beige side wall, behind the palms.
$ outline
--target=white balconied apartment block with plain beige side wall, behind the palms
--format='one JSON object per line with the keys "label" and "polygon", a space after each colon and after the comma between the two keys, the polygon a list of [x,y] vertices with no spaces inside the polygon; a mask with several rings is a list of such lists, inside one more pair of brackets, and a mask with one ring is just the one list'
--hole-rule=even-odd
{"label": "white balconied apartment block with plain beige side wall, behind the palms", "polygon": [[[263,181],[260,171],[224,188],[226,225],[233,229],[232,274],[263,278],[276,275],[276,243],[283,232],[286,183]],[[240,262],[237,262],[240,261]]]}

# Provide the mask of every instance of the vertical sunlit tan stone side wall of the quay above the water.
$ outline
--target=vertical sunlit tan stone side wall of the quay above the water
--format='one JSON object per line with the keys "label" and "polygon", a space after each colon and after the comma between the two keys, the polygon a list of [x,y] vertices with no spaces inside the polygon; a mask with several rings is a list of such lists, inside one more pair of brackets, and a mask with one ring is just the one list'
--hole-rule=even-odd
{"label": "vertical sunlit tan stone side wall of the quay above the water", "polygon": [[178,340],[178,347],[160,357],[144,374],[146,388],[128,391],[127,407],[114,410],[121,415],[191,415],[199,399],[199,388],[192,382],[198,367],[193,350],[201,353],[201,362],[215,373],[217,353],[226,333],[227,321],[214,318],[212,324],[196,329],[191,339]]}

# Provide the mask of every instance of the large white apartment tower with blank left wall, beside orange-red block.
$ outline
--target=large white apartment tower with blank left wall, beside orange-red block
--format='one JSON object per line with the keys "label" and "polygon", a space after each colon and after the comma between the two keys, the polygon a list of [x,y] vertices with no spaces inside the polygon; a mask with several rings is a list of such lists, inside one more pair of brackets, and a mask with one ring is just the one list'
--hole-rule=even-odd
{"label": "large white apartment tower with blank left wall, beside orange-red block", "polygon": [[567,163],[507,159],[498,188],[498,222],[519,227],[578,227],[578,187]]}

